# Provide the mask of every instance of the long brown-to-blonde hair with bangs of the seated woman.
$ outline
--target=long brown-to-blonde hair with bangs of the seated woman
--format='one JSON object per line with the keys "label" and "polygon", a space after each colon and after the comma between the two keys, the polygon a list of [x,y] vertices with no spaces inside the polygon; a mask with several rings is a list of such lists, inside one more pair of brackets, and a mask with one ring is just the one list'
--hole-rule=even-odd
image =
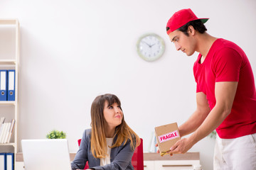
{"label": "long brown-to-blonde hair with bangs of the seated woman", "polygon": [[[111,106],[113,103],[117,103],[121,108],[121,102],[119,98],[114,94],[104,94],[97,96],[95,100],[92,102],[91,107],[91,118],[92,118],[92,134],[91,134],[91,149],[92,155],[95,158],[105,158],[107,157],[107,142],[105,136],[105,118],[103,115],[103,110],[105,106],[105,101],[107,101],[108,105]],[[122,110],[122,108],[121,108]],[[117,140],[114,142],[111,148],[119,147],[127,143],[128,140],[131,141],[131,149],[135,149],[140,145],[139,136],[127,125],[124,121],[124,116],[122,118],[122,123],[116,127],[114,138]]]}

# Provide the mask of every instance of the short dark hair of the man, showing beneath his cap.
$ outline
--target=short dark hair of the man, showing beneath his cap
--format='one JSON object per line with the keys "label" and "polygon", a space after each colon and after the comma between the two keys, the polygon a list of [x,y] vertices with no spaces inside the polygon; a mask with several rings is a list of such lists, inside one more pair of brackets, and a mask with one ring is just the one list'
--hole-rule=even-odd
{"label": "short dark hair of the man, showing beneath his cap", "polygon": [[189,21],[184,26],[181,26],[180,28],[178,28],[178,30],[180,30],[181,32],[183,32],[185,35],[188,36],[188,26],[193,26],[193,28],[195,30],[197,30],[199,33],[204,33],[207,30],[206,26],[203,25],[203,23],[200,19],[194,20],[194,21]]}

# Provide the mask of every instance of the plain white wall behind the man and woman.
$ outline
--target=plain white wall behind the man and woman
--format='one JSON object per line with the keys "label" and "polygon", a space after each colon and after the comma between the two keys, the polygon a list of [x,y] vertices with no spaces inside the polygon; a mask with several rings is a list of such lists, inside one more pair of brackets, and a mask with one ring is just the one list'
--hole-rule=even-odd
{"label": "plain white wall behind the man and woman", "polygon": [[[105,93],[119,96],[145,152],[155,126],[181,125],[196,108],[192,67],[198,55],[176,52],[166,35],[166,22],[181,8],[209,17],[208,33],[240,45],[256,75],[253,0],[1,0],[0,18],[21,24],[18,140],[63,130],[76,152],[76,140],[90,128],[90,105]],[[144,33],[166,42],[155,62],[137,55]],[[200,152],[204,169],[212,169],[213,147],[207,137],[190,150]]]}

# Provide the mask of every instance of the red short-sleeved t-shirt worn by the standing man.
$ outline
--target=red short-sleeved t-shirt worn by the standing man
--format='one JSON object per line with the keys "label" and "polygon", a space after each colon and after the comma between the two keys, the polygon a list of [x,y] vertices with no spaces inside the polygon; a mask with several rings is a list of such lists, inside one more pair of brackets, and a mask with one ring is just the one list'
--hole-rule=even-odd
{"label": "red short-sleeved t-shirt worn by the standing man", "polygon": [[216,129],[219,137],[231,139],[256,133],[255,81],[245,52],[235,43],[220,38],[213,42],[202,64],[200,60],[201,54],[193,66],[196,92],[206,94],[210,109],[216,103],[215,83],[238,81],[231,113]]}

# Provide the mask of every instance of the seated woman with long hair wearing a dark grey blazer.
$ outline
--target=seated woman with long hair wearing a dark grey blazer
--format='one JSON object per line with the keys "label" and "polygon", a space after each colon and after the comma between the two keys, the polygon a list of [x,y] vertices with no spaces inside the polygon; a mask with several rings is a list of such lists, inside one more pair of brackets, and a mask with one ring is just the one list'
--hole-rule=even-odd
{"label": "seated woman with long hair wearing a dark grey blazer", "polygon": [[132,155],[139,136],[125,123],[119,98],[114,94],[97,96],[91,107],[91,129],[82,135],[72,169],[134,169]]}

